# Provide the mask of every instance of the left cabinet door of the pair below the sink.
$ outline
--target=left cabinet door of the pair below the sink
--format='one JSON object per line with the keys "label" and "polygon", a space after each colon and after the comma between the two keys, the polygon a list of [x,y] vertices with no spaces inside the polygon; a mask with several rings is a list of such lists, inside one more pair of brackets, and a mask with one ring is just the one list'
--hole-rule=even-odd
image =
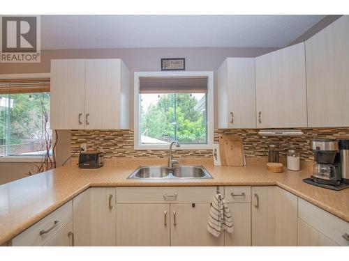
{"label": "left cabinet door of the pair below the sink", "polygon": [[170,246],[170,204],[117,204],[117,246]]}

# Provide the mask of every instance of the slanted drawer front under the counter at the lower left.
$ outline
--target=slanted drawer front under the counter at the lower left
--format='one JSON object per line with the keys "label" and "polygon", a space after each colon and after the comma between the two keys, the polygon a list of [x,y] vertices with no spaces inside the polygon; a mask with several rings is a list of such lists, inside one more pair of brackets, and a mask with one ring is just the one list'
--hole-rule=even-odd
{"label": "slanted drawer front under the counter at the lower left", "polygon": [[[13,246],[43,246],[73,219],[71,200],[12,239]],[[58,221],[58,223],[57,223]],[[54,223],[57,223],[54,225]],[[51,229],[52,228],[52,229]],[[50,231],[48,231],[50,230]],[[47,231],[40,235],[40,231]]]}

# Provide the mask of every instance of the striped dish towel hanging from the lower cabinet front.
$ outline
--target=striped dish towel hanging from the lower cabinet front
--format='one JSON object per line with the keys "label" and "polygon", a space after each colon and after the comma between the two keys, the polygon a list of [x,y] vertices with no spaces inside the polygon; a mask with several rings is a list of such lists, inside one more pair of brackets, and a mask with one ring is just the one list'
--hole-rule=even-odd
{"label": "striped dish towel hanging from the lower cabinet front", "polygon": [[207,231],[218,237],[223,230],[232,233],[234,231],[234,224],[232,223],[232,214],[230,213],[228,204],[222,198],[221,193],[217,193],[214,196],[209,211]]}

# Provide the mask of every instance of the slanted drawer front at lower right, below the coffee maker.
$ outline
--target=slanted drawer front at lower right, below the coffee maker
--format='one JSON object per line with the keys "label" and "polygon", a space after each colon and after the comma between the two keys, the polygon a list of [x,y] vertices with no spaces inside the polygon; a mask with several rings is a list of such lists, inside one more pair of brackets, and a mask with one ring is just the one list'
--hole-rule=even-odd
{"label": "slanted drawer front at lower right, below the coffee maker", "polygon": [[302,198],[298,198],[298,217],[336,244],[349,246],[349,241],[343,238],[345,233],[349,234],[348,222],[329,214],[329,212],[306,200],[302,200]]}

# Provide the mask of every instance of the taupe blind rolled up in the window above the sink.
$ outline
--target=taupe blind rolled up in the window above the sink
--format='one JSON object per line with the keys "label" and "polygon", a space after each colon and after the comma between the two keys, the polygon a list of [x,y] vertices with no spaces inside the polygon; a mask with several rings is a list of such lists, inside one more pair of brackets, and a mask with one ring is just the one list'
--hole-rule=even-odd
{"label": "taupe blind rolled up in the window above the sink", "polygon": [[207,93],[207,77],[140,77],[140,93]]}

